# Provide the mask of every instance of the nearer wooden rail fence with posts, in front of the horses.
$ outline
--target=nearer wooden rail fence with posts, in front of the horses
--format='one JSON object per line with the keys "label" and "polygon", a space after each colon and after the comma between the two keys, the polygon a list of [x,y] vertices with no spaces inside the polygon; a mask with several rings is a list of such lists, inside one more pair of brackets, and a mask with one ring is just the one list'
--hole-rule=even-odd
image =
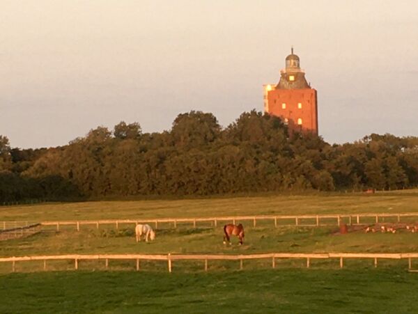
{"label": "nearer wooden rail fence with posts, in front of the horses", "polygon": [[47,260],[74,260],[74,269],[79,268],[80,260],[104,260],[106,268],[109,267],[109,260],[136,260],[137,271],[139,270],[140,260],[162,260],[167,261],[169,272],[173,270],[173,262],[176,260],[201,260],[203,269],[208,271],[208,260],[239,260],[240,269],[243,269],[244,260],[269,259],[272,268],[276,267],[277,259],[306,259],[306,267],[310,267],[311,260],[315,259],[338,259],[339,266],[343,268],[344,259],[373,259],[374,266],[378,266],[378,259],[408,260],[408,269],[412,269],[412,258],[418,258],[418,253],[262,253],[247,255],[217,255],[217,254],[98,254],[98,255],[59,255],[59,256],[22,256],[0,258],[0,262],[11,262],[12,272],[16,271],[16,262],[40,260],[43,261],[43,269],[47,270]]}

